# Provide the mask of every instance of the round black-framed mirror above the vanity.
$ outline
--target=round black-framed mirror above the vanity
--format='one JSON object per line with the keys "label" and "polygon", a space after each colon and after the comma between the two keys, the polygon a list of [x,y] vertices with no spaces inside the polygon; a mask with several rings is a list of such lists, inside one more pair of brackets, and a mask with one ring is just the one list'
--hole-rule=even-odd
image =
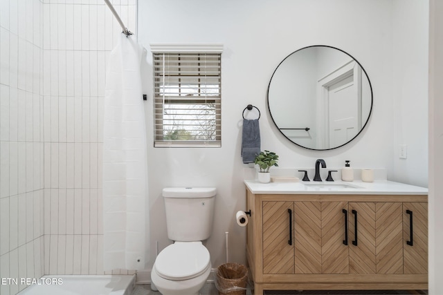
{"label": "round black-framed mirror above the vanity", "polygon": [[306,149],[336,149],[368,123],[372,87],[356,59],[330,46],[291,53],[275,69],[268,107],[278,130]]}

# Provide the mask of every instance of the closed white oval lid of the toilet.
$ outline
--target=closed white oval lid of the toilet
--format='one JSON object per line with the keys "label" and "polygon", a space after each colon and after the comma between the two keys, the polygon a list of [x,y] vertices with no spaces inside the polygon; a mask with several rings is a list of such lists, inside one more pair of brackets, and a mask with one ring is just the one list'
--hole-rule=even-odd
{"label": "closed white oval lid of the toilet", "polygon": [[175,242],[160,252],[156,272],[168,280],[188,280],[203,274],[210,264],[208,249],[201,242]]}

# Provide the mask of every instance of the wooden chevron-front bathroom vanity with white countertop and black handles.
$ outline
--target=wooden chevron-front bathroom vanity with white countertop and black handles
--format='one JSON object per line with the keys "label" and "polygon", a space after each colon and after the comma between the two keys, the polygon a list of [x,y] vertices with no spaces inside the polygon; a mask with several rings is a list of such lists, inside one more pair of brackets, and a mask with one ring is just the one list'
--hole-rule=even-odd
{"label": "wooden chevron-front bathroom vanity with white countertop and black handles", "polygon": [[390,181],[245,180],[254,294],[428,289],[428,190]]}

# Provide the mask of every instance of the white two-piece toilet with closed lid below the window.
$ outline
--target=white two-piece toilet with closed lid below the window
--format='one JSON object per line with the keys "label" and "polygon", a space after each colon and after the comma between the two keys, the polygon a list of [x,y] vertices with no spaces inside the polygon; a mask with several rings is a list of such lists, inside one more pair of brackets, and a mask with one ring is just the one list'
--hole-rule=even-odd
{"label": "white two-piece toilet with closed lid below the window", "polygon": [[198,295],[211,270],[210,254],[202,241],[213,229],[217,189],[163,189],[168,238],[174,244],[157,256],[151,281],[163,295]]}

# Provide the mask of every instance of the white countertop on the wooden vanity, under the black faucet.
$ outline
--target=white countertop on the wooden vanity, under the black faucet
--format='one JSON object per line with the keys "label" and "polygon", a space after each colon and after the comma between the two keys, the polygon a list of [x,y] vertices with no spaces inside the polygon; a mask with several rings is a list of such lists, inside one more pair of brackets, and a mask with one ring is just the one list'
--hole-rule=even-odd
{"label": "white countertop on the wooden vanity, under the black faucet", "polygon": [[244,180],[246,187],[254,194],[328,194],[328,195],[427,195],[426,187],[376,180],[374,182],[269,182]]}

